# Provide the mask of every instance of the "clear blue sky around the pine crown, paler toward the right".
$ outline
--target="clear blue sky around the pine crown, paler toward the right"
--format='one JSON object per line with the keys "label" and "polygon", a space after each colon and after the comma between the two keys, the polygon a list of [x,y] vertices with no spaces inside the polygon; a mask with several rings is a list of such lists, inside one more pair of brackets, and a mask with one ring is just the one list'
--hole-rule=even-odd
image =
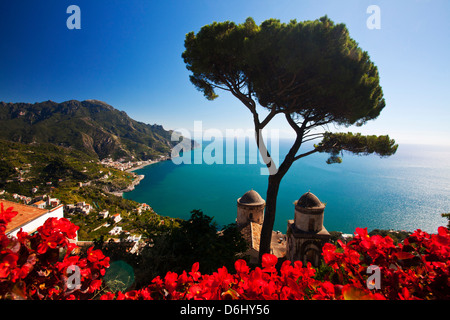
{"label": "clear blue sky around the pine crown, paler toward the right", "polygon": [[[66,27],[72,4],[81,9],[81,30]],[[366,26],[372,4],[381,9],[380,30]],[[207,101],[189,82],[185,34],[213,21],[325,14],[369,52],[387,102],[377,120],[349,130],[450,144],[448,0],[1,1],[0,101],[98,99],[166,129],[192,129],[196,120],[204,129],[251,128],[236,99],[219,92]],[[277,118],[272,127],[286,129]]]}

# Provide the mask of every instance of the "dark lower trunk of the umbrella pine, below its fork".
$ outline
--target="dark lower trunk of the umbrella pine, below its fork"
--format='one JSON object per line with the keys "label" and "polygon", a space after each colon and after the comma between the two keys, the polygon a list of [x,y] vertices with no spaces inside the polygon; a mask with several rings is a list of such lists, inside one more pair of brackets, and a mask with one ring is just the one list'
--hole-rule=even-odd
{"label": "dark lower trunk of the umbrella pine, below its fork", "polygon": [[264,211],[264,223],[261,230],[259,244],[259,263],[261,264],[264,253],[270,253],[270,244],[272,242],[272,230],[275,223],[275,213],[277,209],[278,190],[280,188],[282,175],[275,174],[269,176],[267,186],[266,208]]}

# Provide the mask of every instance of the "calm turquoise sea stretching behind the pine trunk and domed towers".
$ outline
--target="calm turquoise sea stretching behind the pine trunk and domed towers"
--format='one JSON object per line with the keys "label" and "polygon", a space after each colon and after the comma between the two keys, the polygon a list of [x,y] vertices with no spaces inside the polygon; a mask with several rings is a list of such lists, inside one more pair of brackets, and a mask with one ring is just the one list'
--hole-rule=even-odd
{"label": "calm turquoise sea stretching behind the pine trunk and domed towers", "polygon": [[[201,156],[208,143],[185,156]],[[281,141],[280,154],[290,145]],[[235,163],[245,164],[165,161],[147,166],[136,171],[145,179],[124,197],[145,202],[161,215],[188,219],[191,210],[201,209],[219,225],[234,222],[236,200],[246,191],[266,197],[268,176],[260,174],[264,164],[248,144],[245,150],[245,158],[235,156]],[[212,155],[226,162],[225,155]],[[449,147],[400,145],[389,158],[344,153],[343,163],[333,165],[325,163],[327,158],[314,154],[293,164],[281,182],[275,230],[286,231],[287,220],[294,217],[293,202],[308,191],[326,203],[324,225],[329,231],[352,233],[367,227],[436,232],[447,224],[440,214],[450,212]]]}

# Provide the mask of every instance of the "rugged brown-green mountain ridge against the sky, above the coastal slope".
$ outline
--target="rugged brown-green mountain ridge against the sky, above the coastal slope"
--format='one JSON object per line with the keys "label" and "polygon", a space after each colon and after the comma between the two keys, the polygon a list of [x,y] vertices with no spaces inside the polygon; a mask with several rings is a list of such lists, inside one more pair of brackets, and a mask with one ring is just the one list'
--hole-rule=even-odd
{"label": "rugged brown-green mountain ridge against the sky, above the coastal slope", "polygon": [[0,139],[7,141],[51,143],[99,159],[149,160],[170,154],[178,143],[171,136],[161,125],[133,120],[98,100],[0,102]]}

